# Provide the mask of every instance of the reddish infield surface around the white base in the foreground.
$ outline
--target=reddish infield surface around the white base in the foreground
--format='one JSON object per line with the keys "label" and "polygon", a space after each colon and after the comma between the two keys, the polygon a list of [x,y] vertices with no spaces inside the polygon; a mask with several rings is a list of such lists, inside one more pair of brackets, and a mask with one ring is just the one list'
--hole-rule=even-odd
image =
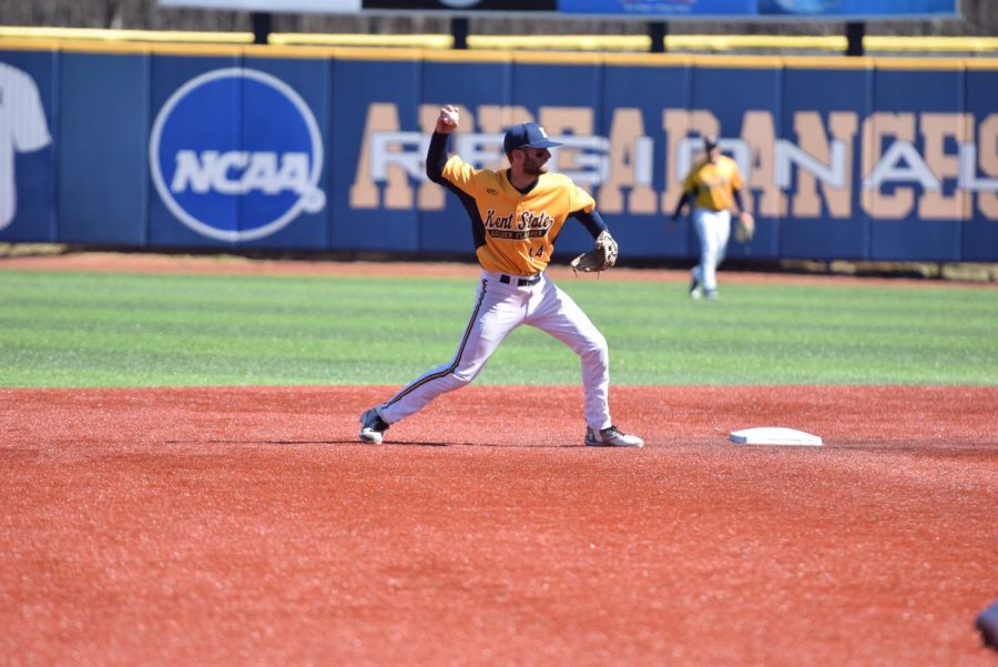
{"label": "reddish infield surface around the white base in the foreground", "polygon": [[0,390],[2,661],[998,664],[998,387],[394,388]]}

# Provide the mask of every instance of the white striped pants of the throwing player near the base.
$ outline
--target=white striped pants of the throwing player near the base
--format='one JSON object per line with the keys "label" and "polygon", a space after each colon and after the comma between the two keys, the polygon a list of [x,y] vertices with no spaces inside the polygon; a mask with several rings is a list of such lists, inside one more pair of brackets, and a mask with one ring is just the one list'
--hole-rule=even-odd
{"label": "white striped pants of the throwing player near the base", "polygon": [[594,431],[609,427],[610,353],[607,340],[572,299],[541,274],[537,284],[499,282],[502,274],[483,271],[475,307],[450,363],[437,366],[403,387],[378,406],[381,418],[394,424],[430,401],[470,383],[485,367],[499,343],[521,324],[544,331],[579,355],[585,394],[585,422]]}

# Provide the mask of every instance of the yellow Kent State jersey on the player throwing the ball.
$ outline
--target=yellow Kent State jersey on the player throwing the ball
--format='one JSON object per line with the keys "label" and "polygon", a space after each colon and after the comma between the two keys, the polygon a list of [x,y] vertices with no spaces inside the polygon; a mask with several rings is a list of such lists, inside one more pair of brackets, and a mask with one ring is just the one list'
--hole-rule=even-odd
{"label": "yellow Kent State jersey on the player throwing the ball", "polygon": [[592,196],[563,174],[541,174],[523,194],[506,171],[477,170],[451,155],[442,176],[460,191],[472,216],[475,254],[486,271],[515,275],[543,271],[568,216],[595,209]]}

